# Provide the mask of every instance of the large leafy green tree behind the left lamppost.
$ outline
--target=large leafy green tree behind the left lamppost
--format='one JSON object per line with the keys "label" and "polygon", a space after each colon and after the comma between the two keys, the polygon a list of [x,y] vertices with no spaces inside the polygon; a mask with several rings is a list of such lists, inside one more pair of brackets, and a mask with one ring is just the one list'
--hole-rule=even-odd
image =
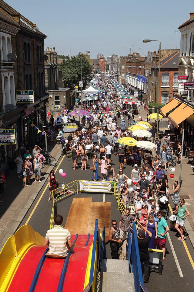
{"label": "large leafy green tree behind the left lamppost", "polygon": [[[66,59],[63,64],[59,65],[59,70],[62,70],[62,81],[65,87],[69,87],[70,84],[78,84],[81,80],[81,54]],[[82,55],[82,80],[91,75],[91,71],[92,66]]]}

